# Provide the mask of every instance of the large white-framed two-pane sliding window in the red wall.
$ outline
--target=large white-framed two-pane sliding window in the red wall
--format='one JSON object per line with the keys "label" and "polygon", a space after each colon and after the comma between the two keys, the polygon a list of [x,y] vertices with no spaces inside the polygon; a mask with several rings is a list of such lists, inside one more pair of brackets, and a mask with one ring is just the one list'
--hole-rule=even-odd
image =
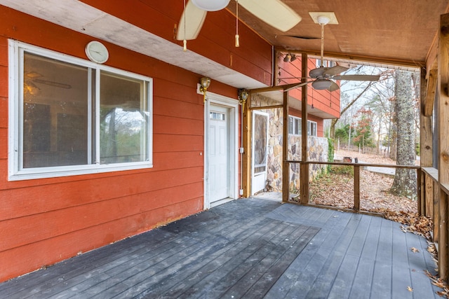
{"label": "large white-framed two-pane sliding window in the red wall", "polygon": [[152,167],[152,79],[10,41],[9,178]]}

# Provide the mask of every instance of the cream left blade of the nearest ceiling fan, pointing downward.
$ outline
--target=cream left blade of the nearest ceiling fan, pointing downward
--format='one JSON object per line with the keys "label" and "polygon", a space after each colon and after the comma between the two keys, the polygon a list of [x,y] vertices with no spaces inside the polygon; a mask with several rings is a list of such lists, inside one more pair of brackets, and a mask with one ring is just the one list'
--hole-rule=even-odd
{"label": "cream left blade of the nearest ceiling fan, pointing downward", "polygon": [[182,12],[180,23],[177,25],[176,39],[178,41],[196,39],[206,20],[206,15],[207,11],[197,8],[192,1],[188,1]]}

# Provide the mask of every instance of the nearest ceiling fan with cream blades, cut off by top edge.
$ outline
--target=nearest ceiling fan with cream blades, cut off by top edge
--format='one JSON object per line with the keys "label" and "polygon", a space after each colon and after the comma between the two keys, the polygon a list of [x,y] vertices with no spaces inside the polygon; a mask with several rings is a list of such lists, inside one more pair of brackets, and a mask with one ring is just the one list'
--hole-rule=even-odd
{"label": "nearest ceiling fan with cream blades, cut off by top edge", "polygon": [[[220,11],[227,7],[231,0],[190,0],[187,1],[177,26],[176,39],[188,41],[196,39],[208,11]],[[268,25],[287,32],[302,19],[292,8],[280,0],[236,0],[237,4],[246,8]]]}

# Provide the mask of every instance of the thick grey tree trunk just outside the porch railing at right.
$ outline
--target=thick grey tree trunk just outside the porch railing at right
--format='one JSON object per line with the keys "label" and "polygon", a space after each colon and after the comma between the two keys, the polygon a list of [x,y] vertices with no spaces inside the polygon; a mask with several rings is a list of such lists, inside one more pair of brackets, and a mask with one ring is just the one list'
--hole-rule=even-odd
{"label": "thick grey tree trunk just outside the porch railing at right", "polygon": [[[396,164],[415,165],[415,118],[413,110],[413,86],[409,71],[396,71]],[[415,169],[396,169],[391,194],[417,198]]]}

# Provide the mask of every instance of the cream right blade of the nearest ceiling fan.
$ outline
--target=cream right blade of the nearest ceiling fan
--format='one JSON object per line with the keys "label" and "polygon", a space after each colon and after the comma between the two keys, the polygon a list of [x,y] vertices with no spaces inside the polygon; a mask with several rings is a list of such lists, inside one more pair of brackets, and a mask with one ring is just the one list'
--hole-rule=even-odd
{"label": "cream right blade of the nearest ceiling fan", "polygon": [[280,0],[239,0],[239,4],[268,25],[287,32],[302,18]]}

